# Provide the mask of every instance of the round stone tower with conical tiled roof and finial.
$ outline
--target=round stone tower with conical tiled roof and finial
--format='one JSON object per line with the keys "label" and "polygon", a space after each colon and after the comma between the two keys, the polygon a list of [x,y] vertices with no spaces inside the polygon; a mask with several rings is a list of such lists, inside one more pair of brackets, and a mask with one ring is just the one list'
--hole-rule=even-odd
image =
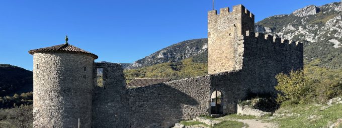
{"label": "round stone tower with conical tiled roof and finial", "polygon": [[97,55],[67,43],[33,55],[34,127],[91,127],[93,66]]}

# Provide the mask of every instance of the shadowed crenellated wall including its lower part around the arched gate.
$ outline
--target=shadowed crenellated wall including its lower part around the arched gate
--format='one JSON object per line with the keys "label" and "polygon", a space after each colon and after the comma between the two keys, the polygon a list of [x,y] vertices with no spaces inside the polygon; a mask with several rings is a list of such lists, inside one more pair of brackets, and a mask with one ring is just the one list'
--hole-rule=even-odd
{"label": "shadowed crenellated wall including its lower part around the arched gate", "polygon": [[277,74],[303,69],[303,44],[249,31],[245,35],[235,41],[243,48],[242,69],[210,75],[212,91],[222,93],[223,113],[236,113],[240,99],[274,95]]}

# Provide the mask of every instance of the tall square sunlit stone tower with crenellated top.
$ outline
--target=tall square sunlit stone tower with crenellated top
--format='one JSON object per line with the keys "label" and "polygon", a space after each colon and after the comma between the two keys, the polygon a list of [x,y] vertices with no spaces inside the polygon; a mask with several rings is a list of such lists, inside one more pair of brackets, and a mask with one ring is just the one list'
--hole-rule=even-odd
{"label": "tall square sunlit stone tower with crenellated top", "polygon": [[238,37],[254,32],[254,15],[242,5],[208,12],[208,73],[242,68],[243,42]]}

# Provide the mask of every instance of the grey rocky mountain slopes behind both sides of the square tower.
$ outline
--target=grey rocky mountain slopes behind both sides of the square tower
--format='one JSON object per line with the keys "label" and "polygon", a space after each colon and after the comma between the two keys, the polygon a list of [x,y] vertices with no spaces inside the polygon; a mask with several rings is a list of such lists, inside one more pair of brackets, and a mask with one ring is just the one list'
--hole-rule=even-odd
{"label": "grey rocky mountain slopes behind both sides of the square tower", "polygon": [[[304,43],[305,64],[320,59],[318,65],[342,68],[342,3],[321,7],[308,6],[289,15],[266,18],[255,24],[255,32],[279,35],[283,39]],[[207,39],[183,41],[161,49],[125,69],[135,69],[165,62],[178,62],[193,57],[194,62],[207,63]]]}

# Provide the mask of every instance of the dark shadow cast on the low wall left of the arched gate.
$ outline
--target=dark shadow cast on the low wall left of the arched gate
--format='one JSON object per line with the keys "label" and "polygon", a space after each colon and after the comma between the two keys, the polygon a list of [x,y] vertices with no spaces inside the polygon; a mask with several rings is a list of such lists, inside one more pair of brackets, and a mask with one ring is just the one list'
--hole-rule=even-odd
{"label": "dark shadow cast on the low wall left of the arched gate", "polygon": [[199,103],[164,83],[129,89],[131,127],[170,127],[183,117],[184,107]]}

